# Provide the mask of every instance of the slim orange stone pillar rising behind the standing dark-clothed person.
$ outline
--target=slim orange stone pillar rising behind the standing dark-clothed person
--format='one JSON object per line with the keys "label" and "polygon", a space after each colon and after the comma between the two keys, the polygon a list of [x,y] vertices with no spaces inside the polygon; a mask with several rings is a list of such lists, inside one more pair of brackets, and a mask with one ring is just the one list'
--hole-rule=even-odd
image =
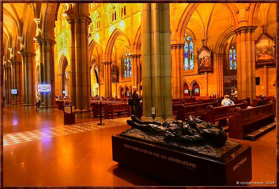
{"label": "slim orange stone pillar rising behind the standing dark-clothed person", "polygon": [[139,65],[139,58],[140,54],[131,54],[130,57],[132,58],[132,86],[136,86],[137,90],[140,91],[140,65]]}

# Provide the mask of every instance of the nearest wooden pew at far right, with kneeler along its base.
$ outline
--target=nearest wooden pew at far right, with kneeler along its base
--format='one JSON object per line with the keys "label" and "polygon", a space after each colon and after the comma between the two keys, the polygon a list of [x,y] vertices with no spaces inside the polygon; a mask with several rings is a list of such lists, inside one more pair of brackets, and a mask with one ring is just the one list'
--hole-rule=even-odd
{"label": "nearest wooden pew at far right, with kneeler along its base", "polygon": [[[228,122],[229,138],[254,140],[256,136],[271,128],[266,125],[274,122],[274,103],[269,101],[267,105],[244,110],[236,107],[233,109],[233,115],[229,117]],[[253,132],[250,133],[251,131]]]}

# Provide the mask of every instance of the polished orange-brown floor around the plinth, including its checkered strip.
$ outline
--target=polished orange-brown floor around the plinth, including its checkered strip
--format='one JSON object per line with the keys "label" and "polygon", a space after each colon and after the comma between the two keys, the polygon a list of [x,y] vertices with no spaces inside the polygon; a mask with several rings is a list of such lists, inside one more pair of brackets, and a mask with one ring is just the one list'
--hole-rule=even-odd
{"label": "polished orange-brown floor around the plinth, including its checkered strip", "polygon": [[[63,111],[39,113],[6,105],[3,109],[3,186],[162,186],[118,166],[111,136],[130,128],[127,117],[76,119],[64,125]],[[276,130],[252,147],[252,180],[276,186]],[[270,184],[269,184],[270,183]]]}

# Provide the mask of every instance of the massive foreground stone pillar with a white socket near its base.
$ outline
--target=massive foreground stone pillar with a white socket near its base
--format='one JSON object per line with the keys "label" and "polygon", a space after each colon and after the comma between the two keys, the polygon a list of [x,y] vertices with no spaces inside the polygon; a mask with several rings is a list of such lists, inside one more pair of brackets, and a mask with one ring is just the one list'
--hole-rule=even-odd
{"label": "massive foreground stone pillar with a white socket near its base", "polygon": [[[141,4],[143,120],[173,120],[171,103],[170,6]],[[164,18],[164,19],[162,19]],[[151,24],[152,23],[152,24]],[[151,108],[155,108],[155,115]]]}

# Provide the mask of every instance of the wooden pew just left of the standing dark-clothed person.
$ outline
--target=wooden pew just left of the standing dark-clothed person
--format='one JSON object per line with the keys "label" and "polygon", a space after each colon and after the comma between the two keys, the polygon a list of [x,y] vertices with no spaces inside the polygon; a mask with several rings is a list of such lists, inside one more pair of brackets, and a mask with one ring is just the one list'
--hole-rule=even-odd
{"label": "wooden pew just left of the standing dark-clothed person", "polygon": [[122,114],[127,113],[129,117],[131,117],[131,108],[130,105],[127,105],[127,102],[119,102],[119,103],[105,103],[104,104],[104,118],[109,119],[114,118],[114,114],[117,113],[117,116],[121,116]]}

